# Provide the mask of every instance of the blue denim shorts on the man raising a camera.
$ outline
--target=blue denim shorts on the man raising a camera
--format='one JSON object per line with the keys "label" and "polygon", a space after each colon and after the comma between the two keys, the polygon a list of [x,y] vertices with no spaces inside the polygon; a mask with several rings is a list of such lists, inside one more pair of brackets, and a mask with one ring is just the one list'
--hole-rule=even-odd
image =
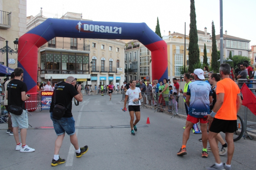
{"label": "blue denim shorts on the man raising a camera", "polygon": [[67,132],[69,136],[75,134],[75,120],[73,117],[62,117],[60,120],[57,120],[52,117],[51,112],[51,119],[57,136],[62,135],[65,132]]}

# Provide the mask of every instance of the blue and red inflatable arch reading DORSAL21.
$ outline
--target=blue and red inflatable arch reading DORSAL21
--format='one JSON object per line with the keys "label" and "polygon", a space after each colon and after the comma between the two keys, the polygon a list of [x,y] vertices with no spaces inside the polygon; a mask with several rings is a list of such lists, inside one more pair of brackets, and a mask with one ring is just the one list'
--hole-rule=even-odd
{"label": "blue and red inflatable arch reading DORSAL21", "polygon": [[152,78],[168,78],[167,44],[145,23],[48,18],[19,39],[18,67],[24,69],[24,82],[28,86],[28,93],[36,92],[38,48],[54,37],[137,39],[151,51]]}

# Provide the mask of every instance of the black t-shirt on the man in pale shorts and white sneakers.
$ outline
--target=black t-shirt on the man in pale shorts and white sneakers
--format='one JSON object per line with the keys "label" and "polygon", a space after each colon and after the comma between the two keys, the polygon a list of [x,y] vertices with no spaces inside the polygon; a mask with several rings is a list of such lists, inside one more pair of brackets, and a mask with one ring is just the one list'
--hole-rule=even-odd
{"label": "black t-shirt on the man in pale shorts and white sneakers", "polygon": [[28,91],[26,83],[17,79],[13,79],[7,84],[7,91],[8,106],[15,105],[21,107],[23,110],[26,110],[25,102],[21,100],[21,92]]}

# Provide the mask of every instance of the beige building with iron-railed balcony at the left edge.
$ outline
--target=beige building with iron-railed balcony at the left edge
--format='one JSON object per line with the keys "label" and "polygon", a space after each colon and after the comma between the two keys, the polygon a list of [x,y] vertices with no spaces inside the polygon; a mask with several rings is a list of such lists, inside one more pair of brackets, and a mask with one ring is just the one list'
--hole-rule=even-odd
{"label": "beige building with iron-railed balcony at the left edge", "polygon": [[[15,50],[13,41],[26,33],[26,14],[26,0],[0,0],[0,48],[9,41],[8,46]],[[9,67],[17,67],[17,58],[18,54],[9,54]],[[6,66],[6,53],[0,53],[0,61]]]}

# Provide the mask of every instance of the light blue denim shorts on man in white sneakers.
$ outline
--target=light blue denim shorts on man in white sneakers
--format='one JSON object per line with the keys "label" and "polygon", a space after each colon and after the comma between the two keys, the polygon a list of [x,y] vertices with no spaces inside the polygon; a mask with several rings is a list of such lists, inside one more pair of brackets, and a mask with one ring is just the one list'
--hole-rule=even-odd
{"label": "light blue denim shorts on man in white sneakers", "polygon": [[20,129],[28,129],[28,112],[23,110],[21,115],[14,115],[12,113],[12,127],[20,127]]}

